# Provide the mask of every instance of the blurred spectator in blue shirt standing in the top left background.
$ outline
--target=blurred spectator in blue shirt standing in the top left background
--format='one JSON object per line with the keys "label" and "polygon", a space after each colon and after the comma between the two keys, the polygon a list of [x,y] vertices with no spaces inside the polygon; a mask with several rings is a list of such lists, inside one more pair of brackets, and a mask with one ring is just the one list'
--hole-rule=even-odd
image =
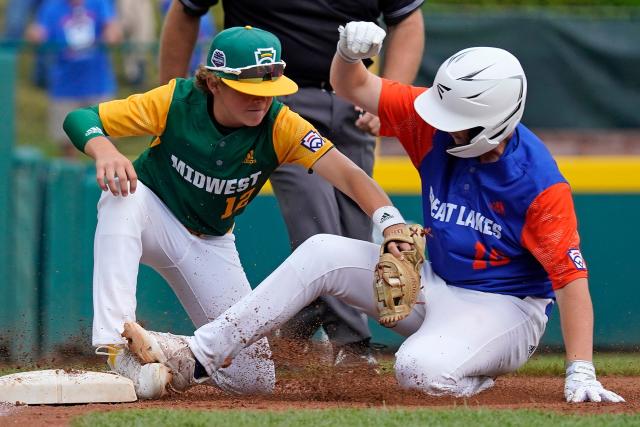
{"label": "blurred spectator in blue shirt standing in the top left background", "polygon": [[73,158],[77,150],[62,130],[65,116],[115,95],[115,76],[105,47],[121,39],[113,3],[44,0],[27,30],[27,38],[46,43],[53,51],[47,85],[51,98],[50,134],[64,156]]}

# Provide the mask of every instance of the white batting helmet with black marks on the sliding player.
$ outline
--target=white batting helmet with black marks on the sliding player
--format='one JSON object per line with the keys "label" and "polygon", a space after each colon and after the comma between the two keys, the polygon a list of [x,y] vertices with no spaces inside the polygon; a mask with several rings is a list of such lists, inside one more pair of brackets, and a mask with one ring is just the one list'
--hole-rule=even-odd
{"label": "white batting helmet with black marks on the sliding player", "polygon": [[433,86],[414,107],[436,129],[457,132],[480,127],[469,144],[447,150],[457,157],[477,157],[494,149],[520,123],[527,78],[511,53],[472,47],[447,59]]}

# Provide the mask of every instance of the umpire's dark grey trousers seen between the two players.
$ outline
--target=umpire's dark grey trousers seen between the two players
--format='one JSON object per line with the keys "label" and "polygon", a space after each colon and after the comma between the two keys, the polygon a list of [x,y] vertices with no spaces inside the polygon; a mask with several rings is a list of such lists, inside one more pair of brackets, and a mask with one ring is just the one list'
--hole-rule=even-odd
{"label": "umpire's dark grey trousers seen between the two players", "polygon": [[[353,104],[319,87],[301,87],[298,92],[280,97],[280,100],[315,126],[359,168],[372,175],[375,139],[356,127],[358,112]],[[371,240],[371,218],[318,174],[310,174],[297,165],[284,164],[275,170],[270,180],[287,224],[291,250],[321,233]],[[315,306],[322,309],[317,310]],[[304,336],[303,331],[310,331],[309,338],[318,325],[324,327],[331,342],[338,346],[371,337],[367,316],[331,295],[323,295],[311,306],[304,307],[281,332],[293,338]]]}

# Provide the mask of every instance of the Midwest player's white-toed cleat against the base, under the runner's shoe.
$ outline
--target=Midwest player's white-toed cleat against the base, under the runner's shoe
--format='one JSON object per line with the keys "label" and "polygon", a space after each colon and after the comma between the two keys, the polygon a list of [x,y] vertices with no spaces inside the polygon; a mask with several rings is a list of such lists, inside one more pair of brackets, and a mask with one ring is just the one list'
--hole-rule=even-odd
{"label": "Midwest player's white-toed cleat against the base, under the runner's shoe", "polygon": [[138,399],[158,399],[167,393],[171,372],[163,364],[142,365],[123,345],[101,346],[96,354],[107,356],[107,365],[112,372],[133,381]]}

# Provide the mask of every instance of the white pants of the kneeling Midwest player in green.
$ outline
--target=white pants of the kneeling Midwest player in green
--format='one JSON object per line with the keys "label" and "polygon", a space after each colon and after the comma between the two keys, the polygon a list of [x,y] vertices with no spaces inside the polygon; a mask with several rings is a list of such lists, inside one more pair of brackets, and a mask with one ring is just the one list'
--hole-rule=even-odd
{"label": "white pants of the kneeling Midwest player in green", "polygon": [[[194,325],[218,317],[251,292],[233,234],[196,237],[144,184],[127,197],[102,194],[94,241],[93,345],[125,342],[126,321],[136,320],[136,284],[142,262],[162,275]],[[237,363],[213,373],[232,393],[271,392],[275,369],[266,338],[238,349]]]}

